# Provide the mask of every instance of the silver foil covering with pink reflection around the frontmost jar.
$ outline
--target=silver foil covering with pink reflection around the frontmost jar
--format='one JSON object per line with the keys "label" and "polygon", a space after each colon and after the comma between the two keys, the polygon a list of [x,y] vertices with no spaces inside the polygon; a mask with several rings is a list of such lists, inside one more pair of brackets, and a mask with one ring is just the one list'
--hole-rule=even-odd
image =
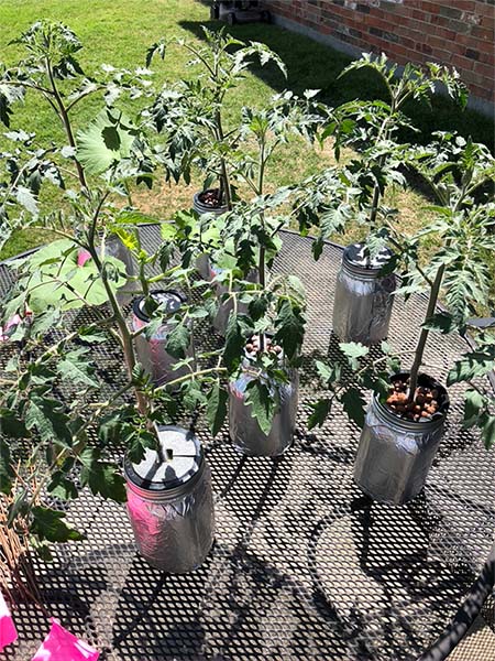
{"label": "silver foil covering with pink reflection around the frontmost jar", "polygon": [[198,567],[213,543],[215,512],[209,466],[184,485],[184,492],[150,499],[128,479],[128,512],[143,557],[157,570],[183,574]]}

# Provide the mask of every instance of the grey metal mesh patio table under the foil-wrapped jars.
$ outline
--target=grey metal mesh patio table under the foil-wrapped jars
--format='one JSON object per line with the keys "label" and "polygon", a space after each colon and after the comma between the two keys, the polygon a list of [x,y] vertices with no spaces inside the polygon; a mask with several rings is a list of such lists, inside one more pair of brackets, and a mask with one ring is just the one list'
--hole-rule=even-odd
{"label": "grey metal mesh patio table under the foil-wrapped jars", "polygon": [[[148,246],[160,240],[154,226],[141,235]],[[462,429],[463,384],[450,389],[446,437],[425,490],[407,506],[372,503],[360,492],[353,481],[360,430],[339,404],[323,427],[307,431],[318,391],[314,360],[339,357],[331,316],[341,249],[326,245],[316,262],[310,238],[283,232],[283,239],[274,270],[298,275],[308,294],[296,440],[283,458],[244,458],[227,426],[213,440],[199,423],[216,492],[207,562],[185,575],[151,568],[135,551],[125,507],[87,491],[67,513],[87,539],[58,546],[53,563],[36,561],[46,608],[101,650],[101,659],[417,659],[463,603],[491,551],[495,454]],[[13,277],[0,267],[2,294]],[[414,349],[425,310],[420,296],[396,301],[394,348]],[[207,322],[200,336],[221,342]],[[459,336],[432,335],[428,371],[444,380],[465,349]],[[122,357],[117,347],[95,350],[111,390]],[[0,369],[7,354],[0,350]],[[13,615],[19,641],[6,659],[25,661],[48,622],[29,604]],[[493,659],[491,644],[488,638],[466,661]]]}

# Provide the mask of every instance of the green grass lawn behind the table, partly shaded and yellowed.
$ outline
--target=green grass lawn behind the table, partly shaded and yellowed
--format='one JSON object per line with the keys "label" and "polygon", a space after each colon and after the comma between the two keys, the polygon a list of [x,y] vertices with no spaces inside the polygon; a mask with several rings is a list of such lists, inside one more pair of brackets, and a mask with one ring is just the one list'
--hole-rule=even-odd
{"label": "green grass lawn behind the table, partly shaded and yellowed", "polygon": [[[76,32],[85,45],[80,62],[87,73],[91,73],[101,63],[118,67],[143,65],[147,46],[160,36],[183,35],[200,40],[201,24],[219,25],[209,21],[208,3],[197,0],[148,0],[145,3],[141,0],[2,2],[0,45],[1,57],[7,64],[14,63],[20,53],[16,46],[7,46],[8,42],[42,18],[64,21]],[[374,98],[384,93],[376,79],[367,73],[355,73],[338,80],[337,77],[349,58],[307,37],[266,24],[239,25],[230,30],[242,40],[257,40],[268,44],[288,66],[287,82],[275,67],[253,69],[244,85],[233,90],[229,98],[230,117],[234,117],[242,105],[265,104],[271,95],[284,87],[296,93],[301,93],[305,88],[321,89],[322,98],[331,106],[356,97]],[[179,48],[170,50],[165,63],[155,63],[157,83],[194,76],[195,71],[187,67],[186,63],[184,52]],[[84,127],[91,120],[101,105],[98,99],[80,105],[74,118],[76,128]],[[432,110],[425,106],[414,106],[409,108],[409,112],[421,130],[418,137],[421,141],[428,140],[432,130],[455,129],[464,134],[472,134],[475,140],[484,141],[493,148],[493,123],[472,111],[459,112],[443,97],[436,99]],[[44,107],[40,98],[31,97],[18,110],[12,127],[36,131],[45,143],[63,136],[62,127],[57,126],[50,108]],[[273,162],[268,181],[272,186],[290,184],[331,162],[330,147],[321,151],[294,141]],[[174,210],[190,205],[191,196],[199,186],[199,177],[190,186],[164,184],[155,186],[152,192],[138,192],[135,199],[144,210],[169,217]],[[45,205],[55,204],[54,199],[48,193]],[[404,226],[408,231],[429,220],[422,208],[424,198],[413,189],[392,191],[391,202],[400,205]],[[349,235],[340,240],[356,238],[360,231],[361,229],[351,228]],[[41,240],[41,235],[33,230],[18,232],[0,252],[0,258],[36,246]]]}

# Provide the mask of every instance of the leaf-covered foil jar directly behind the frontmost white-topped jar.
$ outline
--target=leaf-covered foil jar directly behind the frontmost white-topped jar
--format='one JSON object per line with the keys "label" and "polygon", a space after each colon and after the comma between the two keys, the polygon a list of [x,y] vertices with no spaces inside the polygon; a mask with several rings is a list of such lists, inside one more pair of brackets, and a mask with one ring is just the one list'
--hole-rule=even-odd
{"label": "leaf-covered foil jar directly behind the frontmost white-topped jar", "polygon": [[[170,316],[186,302],[186,297],[183,294],[173,290],[157,290],[152,292],[151,295],[158,303],[165,303],[166,312]],[[150,323],[150,315],[144,310],[144,296],[139,296],[132,305],[132,328],[134,333]],[[168,335],[174,327],[174,325],[167,323],[165,319],[162,326],[153,333],[152,337],[147,338],[145,333],[142,332],[134,339],[139,361],[156,386],[178,379],[189,371],[187,366],[174,370],[173,368],[177,362],[177,358],[174,358],[166,351],[165,347],[168,342]],[[188,351],[188,356],[191,355],[193,345],[190,345]]]}

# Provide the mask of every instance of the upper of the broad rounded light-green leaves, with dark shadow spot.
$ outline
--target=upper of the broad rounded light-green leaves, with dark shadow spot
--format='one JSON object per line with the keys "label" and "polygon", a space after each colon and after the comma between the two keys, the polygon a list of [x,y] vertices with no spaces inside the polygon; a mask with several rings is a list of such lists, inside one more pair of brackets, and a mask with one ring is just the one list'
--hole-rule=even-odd
{"label": "upper of the broad rounded light-green leaves, with dark shadow spot", "polygon": [[131,155],[138,130],[121,112],[102,110],[77,133],[77,160],[90,174],[99,174]]}

